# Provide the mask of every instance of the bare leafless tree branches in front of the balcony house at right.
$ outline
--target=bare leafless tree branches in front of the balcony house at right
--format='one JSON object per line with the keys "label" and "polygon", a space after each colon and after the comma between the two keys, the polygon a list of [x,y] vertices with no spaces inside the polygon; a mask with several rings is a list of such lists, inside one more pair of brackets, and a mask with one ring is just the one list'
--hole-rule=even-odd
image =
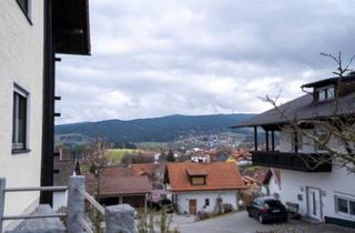
{"label": "bare leafless tree branches in front of the balcony house at right", "polygon": [[[290,123],[291,130],[294,133],[310,139],[314,145],[322,148],[322,151],[326,151],[325,154],[308,154],[306,159],[300,156],[304,160],[308,169],[314,170],[321,164],[332,163],[333,165],[346,168],[348,172],[355,173],[355,110],[346,109],[352,107],[345,107],[339,101],[339,91],[344,88],[343,81],[346,79],[346,75],[353,71],[351,65],[354,62],[355,55],[353,55],[345,65],[341,52],[338,55],[326,53],[321,53],[321,55],[332,59],[337,65],[336,71],[333,72],[333,74],[338,78],[337,88],[335,89],[335,97],[332,102],[329,115],[323,119],[297,119],[288,114],[287,109],[278,104],[280,93],[274,99],[266,95],[264,100],[271,103],[282,118]],[[302,125],[313,125],[314,129],[322,129],[322,134],[304,130]]]}

